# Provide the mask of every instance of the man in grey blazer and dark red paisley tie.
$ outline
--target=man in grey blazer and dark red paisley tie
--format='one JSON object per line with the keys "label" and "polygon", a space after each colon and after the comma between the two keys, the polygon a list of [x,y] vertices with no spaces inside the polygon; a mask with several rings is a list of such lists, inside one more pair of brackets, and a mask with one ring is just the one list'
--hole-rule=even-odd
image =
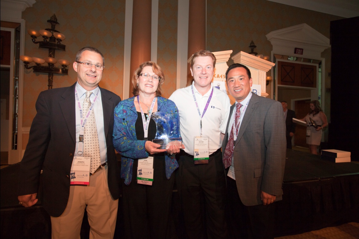
{"label": "man in grey blazer and dark red paisley tie", "polygon": [[225,76],[229,93],[236,99],[222,144],[230,235],[272,238],[273,202],[283,194],[286,149],[282,107],[278,101],[252,94],[248,67],[233,64]]}

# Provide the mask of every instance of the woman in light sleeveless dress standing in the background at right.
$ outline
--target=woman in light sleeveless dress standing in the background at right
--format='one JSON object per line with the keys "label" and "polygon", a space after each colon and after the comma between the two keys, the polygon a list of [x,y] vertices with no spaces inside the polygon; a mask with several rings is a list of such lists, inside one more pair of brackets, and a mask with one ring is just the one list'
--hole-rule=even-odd
{"label": "woman in light sleeveless dress standing in the background at right", "polygon": [[[328,121],[327,116],[320,108],[318,100],[312,100],[309,105],[311,110],[306,117],[301,120],[307,122],[307,144],[309,145],[309,150],[312,154],[317,154],[318,145],[320,145],[322,139],[322,131],[328,126]],[[311,119],[315,125],[313,125]],[[317,126],[317,128],[315,126]]]}

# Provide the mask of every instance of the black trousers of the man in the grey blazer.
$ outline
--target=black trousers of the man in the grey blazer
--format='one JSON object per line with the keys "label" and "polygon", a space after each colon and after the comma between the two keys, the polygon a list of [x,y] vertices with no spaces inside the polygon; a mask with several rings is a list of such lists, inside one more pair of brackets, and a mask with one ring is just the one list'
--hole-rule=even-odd
{"label": "black trousers of the man in the grey blazer", "polygon": [[243,205],[236,181],[227,177],[226,215],[229,238],[273,238],[275,203]]}

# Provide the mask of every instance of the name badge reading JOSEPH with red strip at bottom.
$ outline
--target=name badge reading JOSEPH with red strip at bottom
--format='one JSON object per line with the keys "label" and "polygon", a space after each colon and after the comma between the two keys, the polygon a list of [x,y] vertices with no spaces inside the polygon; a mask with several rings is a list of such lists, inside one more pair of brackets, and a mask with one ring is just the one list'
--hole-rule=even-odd
{"label": "name badge reading JOSEPH with red strip at bottom", "polygon": [[88,185],[90,183],[91,157],[74,156],[70,171],[70,185]]}

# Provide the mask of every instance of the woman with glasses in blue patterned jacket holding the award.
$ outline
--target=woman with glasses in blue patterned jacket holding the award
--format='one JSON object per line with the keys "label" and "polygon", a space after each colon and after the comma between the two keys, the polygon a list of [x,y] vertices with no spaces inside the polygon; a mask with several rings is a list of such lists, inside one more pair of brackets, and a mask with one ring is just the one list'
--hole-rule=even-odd
{"label": "woman with glasses in blue patterned jacket holding the award", "polygon": [[[175,233],[169,217],[174,183],[171,175],[178,168],[174,154],[180,149],[158,149],[160,145],[152,142],[155,122],[148,120],[152,112],[168,114],[178,126],[173,137],[180,137],[177,107],[161,97],[163,82],[163,71],[155,62],[142,63],[132,76],[134,97],[122,100],[115,108],[113,145],[122,155],[125,238],[167,238]],[[141,174],[138,178],[137,172]]]}

